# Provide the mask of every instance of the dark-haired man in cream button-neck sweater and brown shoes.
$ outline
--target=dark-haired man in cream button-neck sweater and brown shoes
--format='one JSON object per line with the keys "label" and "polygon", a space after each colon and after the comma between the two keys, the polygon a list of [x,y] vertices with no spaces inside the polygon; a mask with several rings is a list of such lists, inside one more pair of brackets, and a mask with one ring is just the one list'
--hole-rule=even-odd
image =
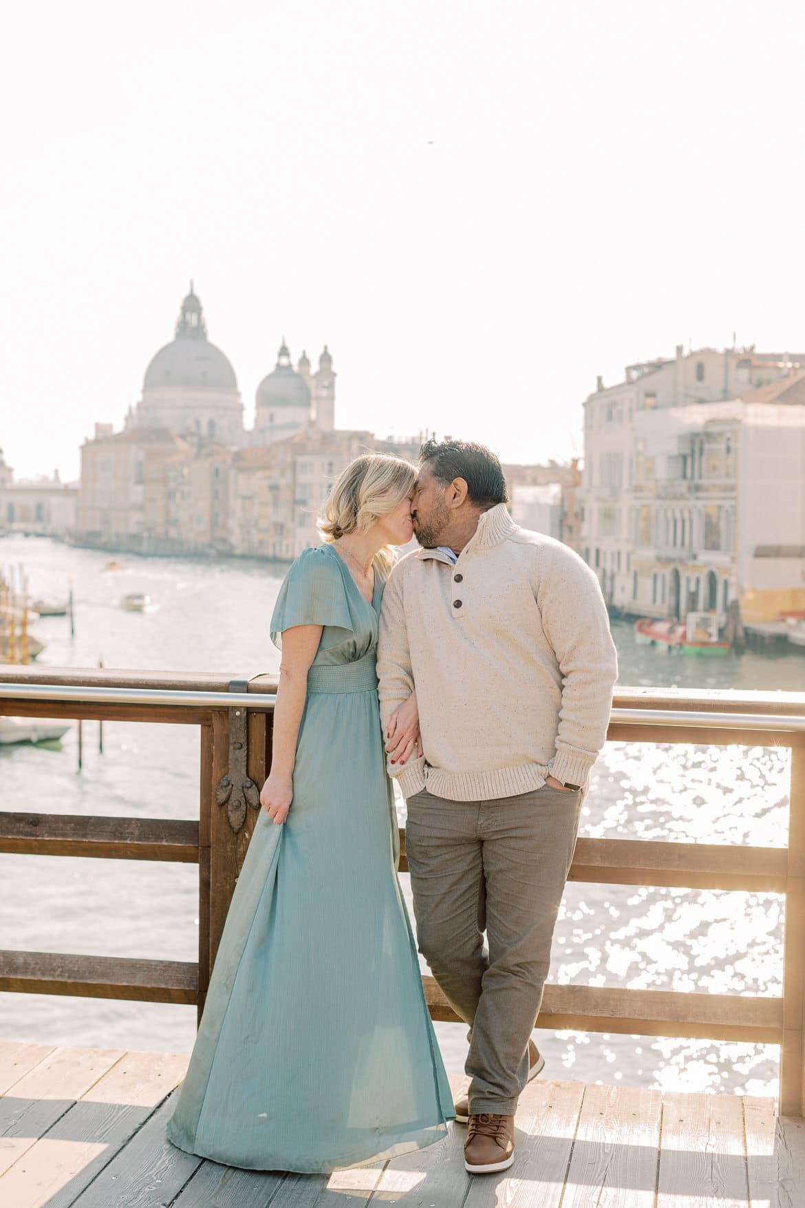
{"label": "dark-haired man in cream button-neck sweater and brown shoes", "polygon": [[422,446],[421,548],[386,583],[378,651],[384,731],[416,689],[424,755],[389,771],[420,951],[471,1026],[456,1119],[473,1174],[512,1165],[518,1096],[543,1064],[531,1030],[617,676],[595,575],[506,503],[489,449]]}

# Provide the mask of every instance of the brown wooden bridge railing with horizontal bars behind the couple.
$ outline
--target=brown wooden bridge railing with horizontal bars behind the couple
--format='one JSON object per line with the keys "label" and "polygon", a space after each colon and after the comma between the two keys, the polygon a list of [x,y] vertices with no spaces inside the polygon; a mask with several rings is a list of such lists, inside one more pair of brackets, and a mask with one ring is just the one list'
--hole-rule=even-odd
{"label": "brown wooden bridge railing with horizontal bars behind the couple", "polygon": [[[0,991],[187,1003],[196,1004],[200,1015],[257,818],[257,809],[246,806],[245,821],[235,830],[228,806],[216,803],[216,788],[223,778],[233,778],[233,761],[244,757],[231,738],[243,725],[245,687],[226,676],[0,668],[0,714],[194,725],[200,731],[198,819],[0,812],[0,852],[198,863],[198,963],[0,952]],[[269,676],[247,687],[253,701],[246,702],[245,769],[257,785],[269,762],[275,687]],[[48,699],[48,693],[62,698]],[[548,985],[537,1026],[777,1044],[780,1110],[805,1115],[805,693],[620,689],[608,737],[791,750],[786,848],[579,838],[571,870],[572,881],[593,883],[784,894],[783,993],[749,997]],[[237,811],[233,818],[237,824]],[[404,870],[403,832],[401,842]],[[456,1020],[433,978],[424,981],[433,1018]]]}

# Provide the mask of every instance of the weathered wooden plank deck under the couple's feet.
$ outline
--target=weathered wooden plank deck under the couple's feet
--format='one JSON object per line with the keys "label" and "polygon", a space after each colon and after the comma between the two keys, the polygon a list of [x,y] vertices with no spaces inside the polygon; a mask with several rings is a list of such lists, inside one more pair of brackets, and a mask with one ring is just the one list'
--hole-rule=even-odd
{"label": "weathered wooden plank deck under the couple's feet", "polygon": [[[0,1044],[2,1208],[799,1208],[805,1121],[771,1099],[532,1082],[514,1166],[469,1178],[465,1129],[331,1178],[255,1174],[164,1136],[186,1056]],[[456,1086],[457,1088],[457,1086]]]}

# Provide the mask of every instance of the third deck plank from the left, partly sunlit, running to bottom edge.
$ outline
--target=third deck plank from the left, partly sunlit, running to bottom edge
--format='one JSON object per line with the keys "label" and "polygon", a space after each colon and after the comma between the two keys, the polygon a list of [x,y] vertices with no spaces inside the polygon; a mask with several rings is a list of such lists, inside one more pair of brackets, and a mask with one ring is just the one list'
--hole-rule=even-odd
{"label": "third deck plank from the left, partly sunlit, running to bottom edge", "polygon": [[14,1208],[70,1208],[187,1069],[187,1056],[126,1053],[0,1179]]}

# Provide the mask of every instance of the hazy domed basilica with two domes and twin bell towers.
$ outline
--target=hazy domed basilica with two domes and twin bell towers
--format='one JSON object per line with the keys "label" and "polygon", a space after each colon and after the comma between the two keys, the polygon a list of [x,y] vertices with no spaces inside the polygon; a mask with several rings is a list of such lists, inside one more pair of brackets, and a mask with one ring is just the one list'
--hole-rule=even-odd
{"label": "hazy domed basilica with two domes and twin bell towers", "polygon": [[129,410],[127,431],[162,428],[198,434],[221,445],[270,445],[304,429],[334,428],[336,373],[325,345],[319,368],[302,354],[297,367],[285,339],[275,367],[259,383],[255,428],[244,430],[244,405],[229,360],[210,343],[202,303],[191,289],[181,304],[174,339],[152,358],[141,400]]}

